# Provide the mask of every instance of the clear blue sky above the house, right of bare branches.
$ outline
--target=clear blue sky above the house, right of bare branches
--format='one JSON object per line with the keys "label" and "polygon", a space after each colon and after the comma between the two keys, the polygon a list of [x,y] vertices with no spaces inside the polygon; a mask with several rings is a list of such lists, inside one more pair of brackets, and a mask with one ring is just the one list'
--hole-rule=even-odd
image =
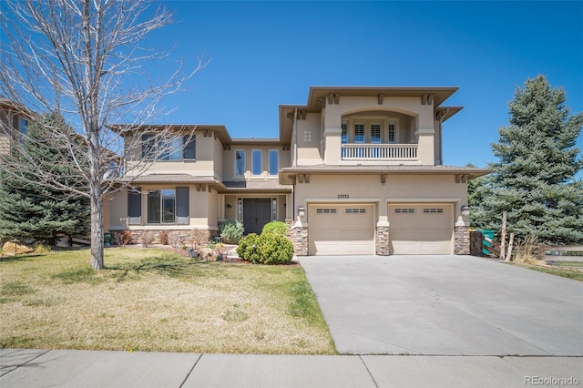
{"label": "clear blue sky above the house, right of bare branches", "polygon": [[160,122],[277,138],[278,105],[305,104],[311,86],[452,86],[460,89],[446,105],[465,108],[445,122],[444,163],[485,167],[528,77],[546,75],[565,87],[572,112],[583,111],[583,2],[156,5],[174,10],[176,23],[148,45],[173,47],[185,66],[210,60],[164,100],[176,110]]}

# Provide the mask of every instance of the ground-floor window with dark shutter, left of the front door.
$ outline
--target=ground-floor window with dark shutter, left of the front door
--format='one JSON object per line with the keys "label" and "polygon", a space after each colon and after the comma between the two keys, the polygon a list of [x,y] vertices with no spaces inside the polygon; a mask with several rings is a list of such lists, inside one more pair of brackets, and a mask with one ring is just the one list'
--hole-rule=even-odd
{"label": "ground-floor window with dark shutter, left of the front door", "polygon": [[189,223],[189,188],[148,192],[148,223]]}

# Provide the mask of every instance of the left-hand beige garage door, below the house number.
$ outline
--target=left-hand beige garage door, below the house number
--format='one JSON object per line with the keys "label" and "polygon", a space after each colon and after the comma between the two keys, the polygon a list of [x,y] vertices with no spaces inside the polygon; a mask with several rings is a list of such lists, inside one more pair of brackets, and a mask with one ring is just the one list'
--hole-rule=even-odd
{"label": "left-hand beige garage door, below the house number", "polygon": [[311,255],[374,254],[373,205],[310,205]]}

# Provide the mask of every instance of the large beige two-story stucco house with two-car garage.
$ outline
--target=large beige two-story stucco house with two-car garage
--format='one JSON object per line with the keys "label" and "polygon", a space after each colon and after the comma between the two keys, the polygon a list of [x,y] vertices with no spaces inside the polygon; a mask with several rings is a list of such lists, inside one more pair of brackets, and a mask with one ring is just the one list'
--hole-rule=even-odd
{"label": "large beige two-story stucco house with two-car garage", "polygon": [[280,106],[272,139],[192,126],[196,140],[114,195],[109,230],[215,236],[222,220],[246,233],[281,220],[298,255],[468,254],[467,181],[489,171],[443,166],[456,90],[311,87],[306,105]]}

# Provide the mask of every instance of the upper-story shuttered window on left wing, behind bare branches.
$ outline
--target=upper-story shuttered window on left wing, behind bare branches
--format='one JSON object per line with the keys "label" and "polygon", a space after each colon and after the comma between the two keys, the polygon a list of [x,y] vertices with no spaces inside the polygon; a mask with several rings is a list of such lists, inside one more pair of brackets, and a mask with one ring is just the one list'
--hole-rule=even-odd
{"label": "upper-story shuttered window on left wing, behind bare branches", "polygon": [[196,139],[190,136],[156,138],[142,135],[142,158],[159,160],[182,160],[196,158]]}

